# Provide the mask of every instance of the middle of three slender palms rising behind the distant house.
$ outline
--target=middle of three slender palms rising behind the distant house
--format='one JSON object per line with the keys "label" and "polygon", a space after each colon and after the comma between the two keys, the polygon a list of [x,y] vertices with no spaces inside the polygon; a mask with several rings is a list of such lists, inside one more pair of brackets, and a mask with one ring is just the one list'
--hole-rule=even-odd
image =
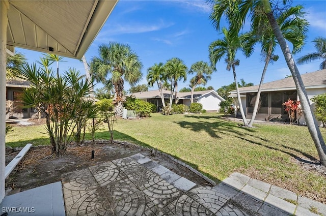
{"label": "middle of three slender palms rising behind the distant house", "polygon": [[187,66],[184,65],[180,58],[173,57],[169,59],[165,65],[166,77],[171,81],[171,94],[170,94],[170,108],[172,107],[173,92],[175,91],[175,103],[178,103],[178,81],[183,79],[183,82],[187,79]]}

